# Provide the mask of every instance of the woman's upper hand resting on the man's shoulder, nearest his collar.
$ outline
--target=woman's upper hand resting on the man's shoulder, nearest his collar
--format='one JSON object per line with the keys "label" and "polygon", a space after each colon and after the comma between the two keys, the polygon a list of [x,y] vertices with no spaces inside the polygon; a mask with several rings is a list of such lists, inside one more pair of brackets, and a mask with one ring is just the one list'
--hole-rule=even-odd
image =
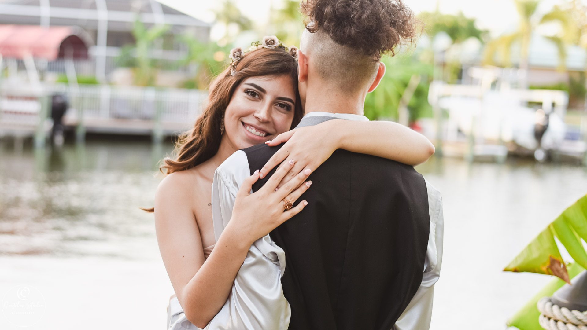
{"label": "woman's upper hand resting on the man's shoulder, nearest his collar", "polygon": [[278,146],[284,143],[261,169],[263,179],[275,166],[279,168],[286,164],[285,159],[295,159],[295,166],[283,177],[278,187],[291,180],[304,168],[316,169],[324,163],[340,147],[339,134],[336,132],[335,122],[346,120],[329,120],[315,126],[300,127],[289,132],[281,133],[275,139],[265,142],[268,146]]}

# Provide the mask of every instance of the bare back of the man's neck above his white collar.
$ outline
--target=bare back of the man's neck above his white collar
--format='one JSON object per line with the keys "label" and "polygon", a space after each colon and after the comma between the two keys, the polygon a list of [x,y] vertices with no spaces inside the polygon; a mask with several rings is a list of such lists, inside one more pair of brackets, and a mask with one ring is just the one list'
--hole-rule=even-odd
{"label": "bare back of the man's neck above his white collar", "polygon": [[308,86],[304,113],[330,112],[363,115],[365,95],[345,95],[327,86]]}

